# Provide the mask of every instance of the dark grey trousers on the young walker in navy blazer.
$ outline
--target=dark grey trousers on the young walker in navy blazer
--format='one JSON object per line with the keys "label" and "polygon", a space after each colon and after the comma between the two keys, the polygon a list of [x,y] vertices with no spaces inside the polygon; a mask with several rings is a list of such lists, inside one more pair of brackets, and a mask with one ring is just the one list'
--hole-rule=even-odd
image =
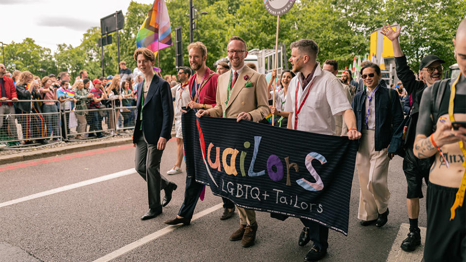
{"label": "dark grey trousers on the young walker in navy blazer", "polygon": [[135,165],[138,174],[147,181],[147,193],[150,209],[162,209],[160,190],[168,186],[169,181],[160,175],[160,160],[163,150],[157,145],[146,142],[141,135],[136,142]]}

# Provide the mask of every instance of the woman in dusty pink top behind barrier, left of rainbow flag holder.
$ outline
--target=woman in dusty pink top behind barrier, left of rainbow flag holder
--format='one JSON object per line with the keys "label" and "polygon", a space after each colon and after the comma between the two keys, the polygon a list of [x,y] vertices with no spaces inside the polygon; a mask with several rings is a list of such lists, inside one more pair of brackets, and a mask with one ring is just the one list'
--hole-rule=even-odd
{"label": "woman in dusty pink top behind barrier, left of rainbow flag holder", "polygon": [[[52,80],[49,77],[42,78],[42,87],[39,88],[39,93],[44,100],[57,100],[55,88],[52,86]],[[42,105],[42,113],[44,114],[47,137],[60,136],[58,131],[58,108],[55,101],[44,101]],[[52,134],[53,131],[53,134]],[[58,140],[55,138],[54,140]]]}

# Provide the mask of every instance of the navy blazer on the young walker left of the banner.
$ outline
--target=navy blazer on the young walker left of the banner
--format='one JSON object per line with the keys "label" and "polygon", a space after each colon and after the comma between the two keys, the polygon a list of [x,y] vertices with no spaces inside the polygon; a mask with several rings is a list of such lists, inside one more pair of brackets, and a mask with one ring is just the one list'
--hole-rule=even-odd
{"label": "navy blazer on the young walker left of the banner", "polygon": [[[170,84],[154,75],[147,97],[142,107],[142,94],[144,92],[143,82],[138,84],[138,102],[136,104],[136,125],[133,133],[133,143],[144,134],[147,143],[157,145],[160,137],[169,140],[172,137],[173,124],[173,99]],[[143,108],[143,109],[142,109]],[[142,109],[142,131],[141,128]]]}

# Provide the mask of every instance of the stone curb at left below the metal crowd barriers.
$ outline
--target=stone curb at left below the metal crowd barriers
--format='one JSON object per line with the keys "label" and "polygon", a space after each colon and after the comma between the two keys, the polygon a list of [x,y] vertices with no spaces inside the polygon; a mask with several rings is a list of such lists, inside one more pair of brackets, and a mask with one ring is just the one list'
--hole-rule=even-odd
{"label": "stone curb at left below the metal crowd barriers", "polygon": [[115,147],[125,144],[132,143],[133,139],[131,137],[120,138],[115,140],[106,140],[106,141],[97,141],[90,142],[86,144],[79,145],[70,145],[65,147],[54,147],[54,148],[44,148],[36,151],[29,151],[19,154],[11,154],[0,156],[0,165],[1,164],[11,164],[20,161],[34,160],[39,158],[51,157],[56,155],[63,155],[75,152],[86,151],[90,149],[104,148],[104,147]]}

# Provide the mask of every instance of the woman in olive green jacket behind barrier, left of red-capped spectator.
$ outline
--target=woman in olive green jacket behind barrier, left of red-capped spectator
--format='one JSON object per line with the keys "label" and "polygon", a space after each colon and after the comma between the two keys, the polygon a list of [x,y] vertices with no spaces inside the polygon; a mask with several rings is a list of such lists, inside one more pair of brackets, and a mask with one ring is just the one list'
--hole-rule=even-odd
{"label": "woman in olive green jacket behind barrier, left of red-capped spectator", "polygon": [[[85,79],[85,80],[87,80],[87,83],[89,83],[89,79]],[[87,127],[87,121],[86,121],[87,100],[94,97],[94,95],[89,94],[89,92],[85,88],[84,81],[74,82],[71,91],[74,92],[74,98],[77,100],[76,111],[74,112],[74,115],[76,115],[76,120],[78,120],[78,127],[76,128],[76,132],[78,133],[78,135],[76,135],[75,138],[82,139],[83,138],[82,133],[86,132],[86,127]]]}

